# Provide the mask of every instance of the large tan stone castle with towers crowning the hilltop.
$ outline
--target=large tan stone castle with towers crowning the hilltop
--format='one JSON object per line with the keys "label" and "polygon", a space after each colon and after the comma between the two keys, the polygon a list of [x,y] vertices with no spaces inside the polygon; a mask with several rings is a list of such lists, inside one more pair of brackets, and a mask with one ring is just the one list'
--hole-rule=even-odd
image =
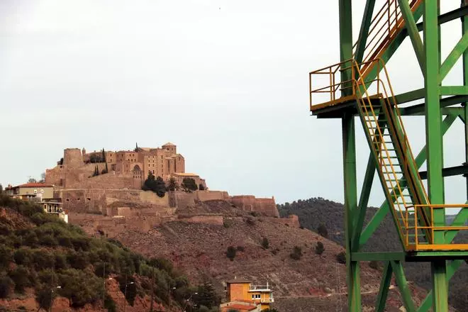
{"label": "large tan stone castle with towers crowning the hilltop", "polygon": [[172,143],[118,152],[67,148],[57,166],[46,170],[45,182],[56,189],[141,189],[150,172],[165,181],[173,177],[179,184],[189,177],[206,189],[204,179],[185,172],[184,156]]}

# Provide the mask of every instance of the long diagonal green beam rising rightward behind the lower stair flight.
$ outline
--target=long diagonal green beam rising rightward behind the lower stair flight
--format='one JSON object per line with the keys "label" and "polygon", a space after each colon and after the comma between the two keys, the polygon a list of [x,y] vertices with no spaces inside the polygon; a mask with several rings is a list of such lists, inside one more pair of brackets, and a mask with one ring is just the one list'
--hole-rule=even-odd
{"label": "long diagonal green beam rising rightward behind the lower stair flight", "polygon": [[[456,116],[452,116],[452,115],[445,117],[444,121],[442,122],[442,135],[447,132],[450,126],[452,126],[452,123],[455,121],[456,118],[457,118]],[[423,163],[426,160],[426,146],[420,150],[415,160],[416,160],[416,166],[418,168],[423,165]],[[401,186],[406,185],[406,182],[402,180],[399,183]],[[381,204],[380,208],[377,210],[377,213],[374,214],[371,221],[367,223],[367,226],[362,231],[360,242],[359,242],[360,247],[362,247],[363,245],[365,245],[365,243],[367,243],[367,240],[369,240],[369,238],[372,236],[372,233],[374,233],[375,230],[377,230],[381,221],[384,220],[387,213],[389,213],[389,204],[387,203],[387,201],[384,201],[384,203]]]}

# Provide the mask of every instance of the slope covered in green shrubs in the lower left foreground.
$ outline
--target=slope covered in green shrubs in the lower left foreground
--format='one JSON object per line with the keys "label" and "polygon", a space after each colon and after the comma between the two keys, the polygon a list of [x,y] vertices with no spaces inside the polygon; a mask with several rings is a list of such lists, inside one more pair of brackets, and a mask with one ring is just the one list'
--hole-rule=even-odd
{"label": "slope covered in green shrubs in the lower left foreground", "polygon": [[167,259],[148,260],[116,240],[89,238],[81,228],[47,215],[40,206],[27,201],[0,195],[0,206],[11,214],[21,213],[30,222],[14,228],[9,220],[0,217],[0,298],[26,294],[30,287],[35,289],[39,306],[46,310],[51,299],[62,296],[72,307],[97,303],[105,297],[108,311],[116,311],[116,303],[103,289],[103,279],[113,274],[122,291],[127,284],[130,305],[136,296],[150,296],[151,289],[157,302],[167,304],[171,287],[175,287],[171,291],[172,305],[184,307],[186,299],[197,291],[203,294],[197,300],[204,306],[211,308],[209,302],[219,304],[212,289],[190,286]]}

